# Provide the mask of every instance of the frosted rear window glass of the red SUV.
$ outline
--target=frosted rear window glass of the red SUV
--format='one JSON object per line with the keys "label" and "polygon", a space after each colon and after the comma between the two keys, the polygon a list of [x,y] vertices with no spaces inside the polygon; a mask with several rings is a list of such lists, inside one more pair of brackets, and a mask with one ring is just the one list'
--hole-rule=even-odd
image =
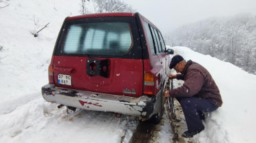
{"label": "frosted rear window glass of the red SUV", "polygon": [[68,24],[63,31],[58,52],[99,56],[122,56],[128,53],[133,45],[129,22],[93,21]]}

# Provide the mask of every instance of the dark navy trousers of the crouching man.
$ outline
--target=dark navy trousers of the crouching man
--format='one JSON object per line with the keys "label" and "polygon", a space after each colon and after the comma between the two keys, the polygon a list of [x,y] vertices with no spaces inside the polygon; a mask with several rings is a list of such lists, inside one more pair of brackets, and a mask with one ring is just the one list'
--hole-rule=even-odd
{"label": "dark navy trousers of the crouching man", "polygon": [[199,114],[202,112],[213,112],[217,106],[204,98],[177,98],[182,106],[182,110],[187,122],[187,129],[190,131],[203,130],[204,126]]}

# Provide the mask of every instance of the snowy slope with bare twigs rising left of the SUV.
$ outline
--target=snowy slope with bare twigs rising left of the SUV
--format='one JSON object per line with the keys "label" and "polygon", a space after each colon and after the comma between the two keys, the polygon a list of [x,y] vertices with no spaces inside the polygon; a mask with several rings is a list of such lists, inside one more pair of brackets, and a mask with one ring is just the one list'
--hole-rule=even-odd
{"label": "snowy slope with bare twigs rising left of the SUV", "polygon": [[[79,1],[31,1],[12,0],[10,5],[0,10],[0,45],[5,52],[1,52],[0,72],[2,95],[17,98],[24,94],[40,90],[38,84],[45,84],[46,68],[50,62],[55,39],[61,24],[70,13],[79,14]],[[46,24],[48,27],[34,38],[35,33]],[[35,24],[36,23],[36,24]],[[42,62],[43,61],[43,62]],[[40,79],[44,79],[43,81]],[[16,89],[16,92],[10,92]],[[6,98],[0,96],[0,100]]]}

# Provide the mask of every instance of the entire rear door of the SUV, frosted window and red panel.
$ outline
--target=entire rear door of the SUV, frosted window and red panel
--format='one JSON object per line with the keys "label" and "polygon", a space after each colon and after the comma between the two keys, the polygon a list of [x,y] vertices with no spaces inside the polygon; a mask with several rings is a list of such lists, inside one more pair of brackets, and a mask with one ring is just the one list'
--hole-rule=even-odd
{"label": "entire rear door of the SUV, frosted window and red panel", "polygon": [[56,86],[142,96],[143,60],[135,17],[67,20],[55,47]]}

